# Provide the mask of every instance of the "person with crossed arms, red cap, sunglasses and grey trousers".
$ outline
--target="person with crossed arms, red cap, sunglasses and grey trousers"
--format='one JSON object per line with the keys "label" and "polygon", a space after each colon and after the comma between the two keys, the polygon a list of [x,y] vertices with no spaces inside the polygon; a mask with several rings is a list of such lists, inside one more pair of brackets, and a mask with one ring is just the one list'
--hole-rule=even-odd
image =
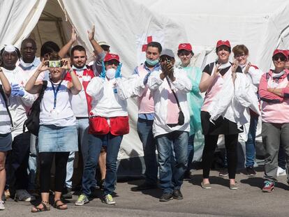
{"label": "person with crossed arms, red cap, sunglasses and grey trousers", "polygon": [[[289,159],[289,70],[288,53],[275,50],[272,57],[274,70],[262,75],[259,95],[262,100],[262,142],[265,147],[265,174],[263,192],[272,192],[277,181],[280,146]],[[288,161],[287,161],[288,171]],[[289,180],[289,177],[287,178]]]}

